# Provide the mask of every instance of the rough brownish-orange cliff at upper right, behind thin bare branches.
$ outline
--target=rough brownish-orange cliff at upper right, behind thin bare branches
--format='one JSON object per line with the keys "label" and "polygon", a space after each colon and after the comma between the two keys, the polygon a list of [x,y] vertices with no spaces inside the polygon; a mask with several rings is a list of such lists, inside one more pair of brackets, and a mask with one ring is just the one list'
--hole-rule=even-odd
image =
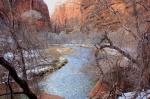
{"label": "rough brownish-orange cliff at upper right, behind thin bare branches", "polygon": [[[101,30],[117,31],[120,27],[130,29],[135,19],[134,1],[128,0],[81,0],[82,6],[82,28],[86,33],[99,32]],[[146,8],[149,1],[141,1]],[[136,4],[139,17],[148,13],[142,6]],[[136,9],[136,10],[137,10]],[[145,18],[148,16],[145,16]],[[126,27],[128,26],[128,27]],[[136,25],[134,25],[136,26]],[[135,28],[135,27],[133,27]]]}

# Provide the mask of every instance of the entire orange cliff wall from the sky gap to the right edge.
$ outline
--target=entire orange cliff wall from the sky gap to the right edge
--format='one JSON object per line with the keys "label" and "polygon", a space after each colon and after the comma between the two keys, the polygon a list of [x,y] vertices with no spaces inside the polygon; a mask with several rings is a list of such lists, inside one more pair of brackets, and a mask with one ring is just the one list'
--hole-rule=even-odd
{"label": "entire orange cliff wall from the sky gap to the right edge", "polygon": [[140,18],[144,13],[144,19],[150,18],[149,6],[149,0],[68,0],[56,8],[52,27],[54,32],[79,29],[83,33],[91,33],[103,29],[116,31],[120,27],[129,30],[136,26],[133,23],[137,21],[136,15]]}

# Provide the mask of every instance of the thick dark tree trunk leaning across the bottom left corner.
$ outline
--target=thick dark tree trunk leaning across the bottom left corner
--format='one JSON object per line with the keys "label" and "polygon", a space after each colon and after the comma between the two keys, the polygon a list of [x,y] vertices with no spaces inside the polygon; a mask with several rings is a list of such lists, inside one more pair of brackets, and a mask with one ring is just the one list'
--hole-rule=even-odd
{"label": "thick dark tree trunk leaning across the bottom left corner", "polygon": [[37,96],[30,90],[26,80],[19,78],[14,67],[11,66],[11,64],[8,61],[6,61],[3,57],[0,57],[0,65],[9,71],[10,76],[23,89],[24,94],[26,94],[30,99],[37,99]]}

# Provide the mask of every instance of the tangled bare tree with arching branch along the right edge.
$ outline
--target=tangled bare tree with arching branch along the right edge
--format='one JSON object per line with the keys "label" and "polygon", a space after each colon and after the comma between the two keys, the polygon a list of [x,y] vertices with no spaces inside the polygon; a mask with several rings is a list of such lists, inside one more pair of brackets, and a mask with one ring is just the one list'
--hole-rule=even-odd
{"label": "tangled bare tree with arching branch along the right edge", "polygon": [[[100,79],[110,86],[110,94],[107,98],[115,99],[119,94],[118,91],[122,93],[130,88],[130,91],[136,91],[136,94],[133,96],[134,99],[137,97],[140,90],[145,90],[146,92],[150,88],[150,28],[148,27],[149,23],[145,21],[149,20],[146,17],[146,13],[149,12],[149,9],[142,0],[129,2],[132,4],[131,8],[133,8],[132,11],[134,14],[132,19],[134,20],[126,24],[126,26],[122,22],[119,13],[113,8],[109,1],[100,0],[98,3],[105,6],[106,9],[110,10],[111,13],[115,15],[120,23],[120,28],[122,28],[123,31],[128,31],[128,33],[134,37],[134,45],[137,45],[133,45],[136,54],[132,55],[132,52],[128,52],[124,49],[125,46],[119,46],[119,44],[116,44],[116,41],[119,39],[113,40],[112,34],[109,33],[109,29],[103,27],[105,33],[95,45],[97,49],[95,52],[95,60],[101,74]],[[109,27],[111,24],[105,26]],[[132,28],[128,28],[128,26],[132,26]],[[113,36],[117,37],[118,35]],[[120,45],[123,45],[123,43],[119,43]],[[116,56],[116,54],[110,55],[110,50],[114,50],[119,56]],[[106,63],[102,64],[102,61],[104,60],[106,60]],[[106,70],[106,67],[103,65],[107,65],[110,69]],[[121,88],[122,82],[128,83],[131,86],[124,85],[126,88],[123,89]]]}

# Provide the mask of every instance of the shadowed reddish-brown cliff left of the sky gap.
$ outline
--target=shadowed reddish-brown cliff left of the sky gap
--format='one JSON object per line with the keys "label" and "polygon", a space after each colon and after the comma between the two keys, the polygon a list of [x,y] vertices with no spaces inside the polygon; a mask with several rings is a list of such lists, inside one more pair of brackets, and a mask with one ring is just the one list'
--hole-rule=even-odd
{"label": "shadowed reddish-brown cliff left of the sky gap", "polygon": [[[47,5],[43,0],[12,0],[14,16],[26,24],[49,30],[50,17]],[[10,16],[11,7],[8,0],[0,0],[1,17]]]}

